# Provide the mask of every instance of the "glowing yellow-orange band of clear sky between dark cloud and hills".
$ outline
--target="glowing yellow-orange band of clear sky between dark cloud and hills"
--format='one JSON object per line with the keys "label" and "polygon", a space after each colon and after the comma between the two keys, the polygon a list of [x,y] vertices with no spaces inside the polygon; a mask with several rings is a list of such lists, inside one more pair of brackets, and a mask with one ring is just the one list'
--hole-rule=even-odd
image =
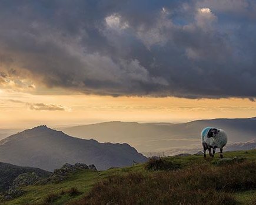
{"label": "glowing yellow-orange band of clear sky between dark cloud and hills", "polygon": [[1,90],[0,97],[0,128],[31,128],[42,124],[67,127],[108,121],[178,123],[256,116],[255,102],[247,98],[35,95],[13,90]]}

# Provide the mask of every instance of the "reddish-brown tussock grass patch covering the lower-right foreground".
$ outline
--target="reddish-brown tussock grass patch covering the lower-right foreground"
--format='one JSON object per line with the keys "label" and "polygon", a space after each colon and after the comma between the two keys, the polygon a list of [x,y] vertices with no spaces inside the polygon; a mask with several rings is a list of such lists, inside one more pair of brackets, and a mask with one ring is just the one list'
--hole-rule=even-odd
{"label": "reddish-brown tussock grass patch covering the lower-right foreground", "polygon": [[81,204],[238,204],[232,193],[256,189],[256,163],[200,164],[171,172],[128,173],[97,183]]}

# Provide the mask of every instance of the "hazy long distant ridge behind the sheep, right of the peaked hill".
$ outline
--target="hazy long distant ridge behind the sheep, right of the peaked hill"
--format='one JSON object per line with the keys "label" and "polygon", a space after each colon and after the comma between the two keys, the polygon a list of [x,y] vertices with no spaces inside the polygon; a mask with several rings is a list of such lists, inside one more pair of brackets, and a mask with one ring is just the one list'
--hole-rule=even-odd
{"label": "hazy long distant ridge behind the sheep, right of the peaked hill", "polygon": [[99,142],[127,142],[139,152],[164,152],[171,149],[201,147],[204,127],[224,129],[228,143],[247,142],[256,138],[256,118],[204,119],[186,123],[103,122],[61,129],[79,138]]}

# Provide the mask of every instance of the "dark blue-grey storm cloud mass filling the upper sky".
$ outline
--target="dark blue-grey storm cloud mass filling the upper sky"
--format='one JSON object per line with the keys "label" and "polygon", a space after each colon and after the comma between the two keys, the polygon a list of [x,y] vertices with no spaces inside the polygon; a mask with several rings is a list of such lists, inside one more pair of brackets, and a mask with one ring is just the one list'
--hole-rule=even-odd
{"label": "dark blue-grey storm cloud mass filling the upper sky", "polygon": [[1,1],[0,78],[99,95],[254,99],[255,13],[252,0]]}

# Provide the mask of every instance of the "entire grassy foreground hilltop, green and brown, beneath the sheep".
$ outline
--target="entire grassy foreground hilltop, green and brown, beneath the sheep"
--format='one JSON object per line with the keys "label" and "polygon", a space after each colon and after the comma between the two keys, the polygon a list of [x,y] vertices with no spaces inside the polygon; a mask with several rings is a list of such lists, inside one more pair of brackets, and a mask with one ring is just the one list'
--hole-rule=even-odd
{"label": "entire grassy foreground hilltop, green and brown, beneath the sheep", "polygon": [[256,204],[256,150],[224,157],[172,156],[83,170],[61,183],[23,187],[23,196],[2,204]]}

